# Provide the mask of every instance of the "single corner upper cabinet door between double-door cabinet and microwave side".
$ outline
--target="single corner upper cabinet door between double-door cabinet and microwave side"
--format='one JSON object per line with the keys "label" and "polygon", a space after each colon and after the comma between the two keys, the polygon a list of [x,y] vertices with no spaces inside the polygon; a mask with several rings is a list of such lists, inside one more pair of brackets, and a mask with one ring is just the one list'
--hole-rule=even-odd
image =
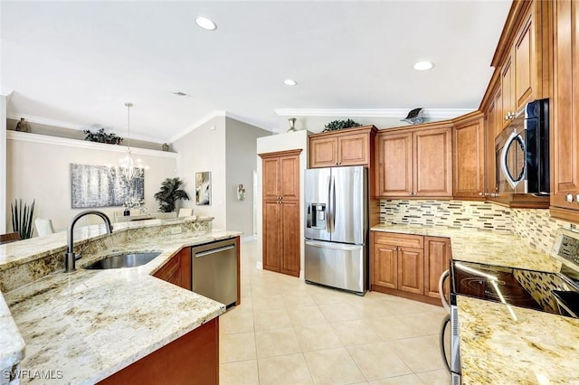
{"label": "single corner upper cabinet door between double-door cabinet and microwave side", "polygon": [[456,198],[484,199],[486,148],[484,134],[482,118],[454,127],[453,196]]}

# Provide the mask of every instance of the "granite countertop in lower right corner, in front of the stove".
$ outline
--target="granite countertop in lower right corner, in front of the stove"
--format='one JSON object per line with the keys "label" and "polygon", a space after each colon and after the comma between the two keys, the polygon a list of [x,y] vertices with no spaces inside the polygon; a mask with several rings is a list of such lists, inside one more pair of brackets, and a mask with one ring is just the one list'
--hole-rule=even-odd
{"label": "granite countertop in lower right corner, in front of the stove", "polygon": [[457,297],[463,384],[579,383],[579,319]]}

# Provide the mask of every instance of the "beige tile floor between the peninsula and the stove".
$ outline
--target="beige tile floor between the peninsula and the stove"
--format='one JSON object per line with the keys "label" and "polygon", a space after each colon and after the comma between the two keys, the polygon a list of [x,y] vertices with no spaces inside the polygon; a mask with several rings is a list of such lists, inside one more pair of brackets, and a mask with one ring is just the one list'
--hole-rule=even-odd
{"label": "beige tile floor between the peninsula and the stove", "polygon": [[257,259],[257,242],[243,242],[242,305],[220,318],[221,384],[450,382],[441,307],[308,285]]}

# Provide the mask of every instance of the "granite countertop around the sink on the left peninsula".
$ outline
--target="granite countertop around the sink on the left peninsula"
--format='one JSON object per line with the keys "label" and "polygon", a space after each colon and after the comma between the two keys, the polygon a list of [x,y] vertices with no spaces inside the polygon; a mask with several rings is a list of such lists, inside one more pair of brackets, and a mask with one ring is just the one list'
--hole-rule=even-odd
{"label": "granite countertop around the sink on the left peninsula", "polygon": [[[155,225],[129,222],[124,229],[151,226]],[[56,272],[4,293],[0,296],[0,371],[21,362],[23,371],[56,371],[51,383],[94,383],[223,314],[223,304],[152,274],[183,247],[240,234],[212,230],[155,238],[147,233],[81,258],[72,273]],[[36,246],[29,244],[29,255],[42,255],[40,244]],[[54,240],[48,247],[62,245]],[[161,254],[138,268],[81,268],[110,252],[135,250]],[[28,380],[21,378],[21,383]]]}

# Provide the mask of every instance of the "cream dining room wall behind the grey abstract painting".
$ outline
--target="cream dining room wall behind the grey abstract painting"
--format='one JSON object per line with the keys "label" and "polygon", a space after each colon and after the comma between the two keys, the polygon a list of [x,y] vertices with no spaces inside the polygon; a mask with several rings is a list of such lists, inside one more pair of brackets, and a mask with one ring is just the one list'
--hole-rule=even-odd
{"label": "cream dining room wall behind the grey abstract painting", "polygon": [[[33,202],[34,218],[52,219],[54,230],[66,229],[81,209],[71,209],[71,163],[119,164],[125,146],[102,145],[81,140],[7,131],[6,227],[12,229],[10,202]],[[145,175],[145,204],[156,212],[153,198],[167,177],[176,175],[176,154],[133,148],[133,156],[149,167]],[[100,208],[113,220],[119,207]],[[99,220],[86,217],[88,222]],[[100,220],[99,220],[100,221]]]}

